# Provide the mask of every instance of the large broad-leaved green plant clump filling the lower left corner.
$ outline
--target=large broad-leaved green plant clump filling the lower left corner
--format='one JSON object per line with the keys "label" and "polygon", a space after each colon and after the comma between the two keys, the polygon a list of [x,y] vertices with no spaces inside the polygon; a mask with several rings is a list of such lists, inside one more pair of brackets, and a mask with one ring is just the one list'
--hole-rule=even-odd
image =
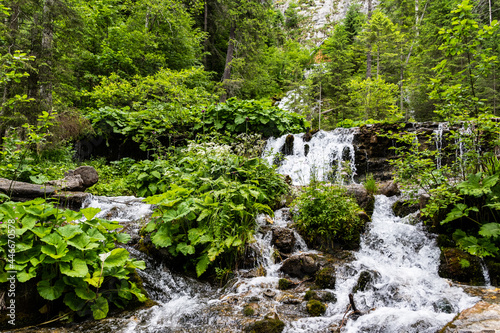
{"label": "large broad-leaved green plant clump filling the lower left corner", "polygon": [[130,236],[117,232],[122,228],[118,222],[94,218],[97,212],[62,211],[43,199],[0,204],[0,282],[7,281],[9,271],[19,283],[34,279],[44,299],[62,298],[70,310],[79,315],[91,311],[94,319],[105,318],[110,303],[122,308],[134,296],[145,301],[128,281],[136,268],[145,268],[144,262],[115,248]]}

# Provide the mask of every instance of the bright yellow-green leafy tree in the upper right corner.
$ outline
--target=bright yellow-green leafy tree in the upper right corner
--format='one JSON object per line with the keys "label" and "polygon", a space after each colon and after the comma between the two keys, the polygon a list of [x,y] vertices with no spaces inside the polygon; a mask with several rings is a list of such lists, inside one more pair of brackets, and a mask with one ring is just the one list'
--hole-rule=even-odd
{"label": "bright yellow-green leafy tree in the upper right corner", "polygon": [[430,98],[439,104],[436,113],[442,119],[467,119],[477,117],[487,110],[486,101],[480,98],[478,80],[487,77],[497,62],[493,40],[497,38],[498,21],[482,25],[473,12],[474,3],[463,0],[451,11],[449,27],[439,31],[445,55],[462,59],[465,65],[457,69],[452,61],[443,59],[433,70]]}

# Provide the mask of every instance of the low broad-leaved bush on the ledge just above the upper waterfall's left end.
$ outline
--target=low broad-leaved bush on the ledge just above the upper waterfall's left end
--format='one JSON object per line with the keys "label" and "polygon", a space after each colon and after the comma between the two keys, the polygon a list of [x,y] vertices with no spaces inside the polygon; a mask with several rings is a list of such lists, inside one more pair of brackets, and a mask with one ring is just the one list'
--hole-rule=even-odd
{"label": "low broad-leaved bush on the ledge just above the upper waterfall's left end", "polygon": [[213,129],[232,134],[257,132],[264,136],[305,131],[305,118],[284,111],[270,103],[230,98],[226,103],[212,104],[200,113],[201,122],[195,130]]}

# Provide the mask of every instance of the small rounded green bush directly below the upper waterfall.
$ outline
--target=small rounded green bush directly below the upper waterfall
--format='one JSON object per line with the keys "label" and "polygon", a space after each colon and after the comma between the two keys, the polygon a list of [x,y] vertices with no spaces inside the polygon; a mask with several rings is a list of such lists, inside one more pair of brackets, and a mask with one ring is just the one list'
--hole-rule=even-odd
{"label": "small rounded green bush directly below the upper waterfall", "polygon": [[305,189],[292,203],[297,230],[312,244],[347,248],[359,245],[364,222],[358,204],[338,186],[316,185]]}

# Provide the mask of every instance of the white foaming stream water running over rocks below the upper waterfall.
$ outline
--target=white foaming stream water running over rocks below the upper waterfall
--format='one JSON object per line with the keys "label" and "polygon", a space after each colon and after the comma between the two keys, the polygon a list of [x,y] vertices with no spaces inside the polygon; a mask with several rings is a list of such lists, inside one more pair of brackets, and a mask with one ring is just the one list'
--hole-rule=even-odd
{"label": "white foaming stream water running over rocks below the upper waterfall", "polygon": [[[125,215],[121,205],[128,201],[137,214],[151,211],[149,205],[130,197],[93,197],[87,206],[99,207],[102,216]],[[139,272],[151,299],[157,302],[148,309],[125,312],[97,323],[83,324],[76,332],[241,332],[266,315],[278,317],[286,324],[284,332],[436,332],[456,313],[472,306],[478,299],[466,295],[438,276],[439,249],[422,225],[412,219],[395,217],[391,206],[395,198],[377,196],[375,211],[361,248],[354,260],[337,267],[336,287],[325,290],[337,301],[326,302],[323,316],[307,314],[304,294],[306,284],[282,291],[278,281],[285,277],[275,259],[273,229],[288,228],[288,209],[276,211],[270,219],[260,216],[253,244],[257,267],[241,270],[224,288],[171,272],[144,253],[128,248],[131,254],[146,261]],[[121,208],[120,208],[121,207]],[[129,207],[130,208],[130,207]],[[123,220],[123,223],[132,223]],[[293,254],[312,253],[297,233]],[[366,314],[357,320],[347,319],[348,294],[360,276],[368,276],[366,285],[354,293],[355,304]],[[292,279],[294,280],[294,279]],[[294,280],[295,282],[299,282]],[[256,313],[245,316],[246,305],[256,304]]]}

